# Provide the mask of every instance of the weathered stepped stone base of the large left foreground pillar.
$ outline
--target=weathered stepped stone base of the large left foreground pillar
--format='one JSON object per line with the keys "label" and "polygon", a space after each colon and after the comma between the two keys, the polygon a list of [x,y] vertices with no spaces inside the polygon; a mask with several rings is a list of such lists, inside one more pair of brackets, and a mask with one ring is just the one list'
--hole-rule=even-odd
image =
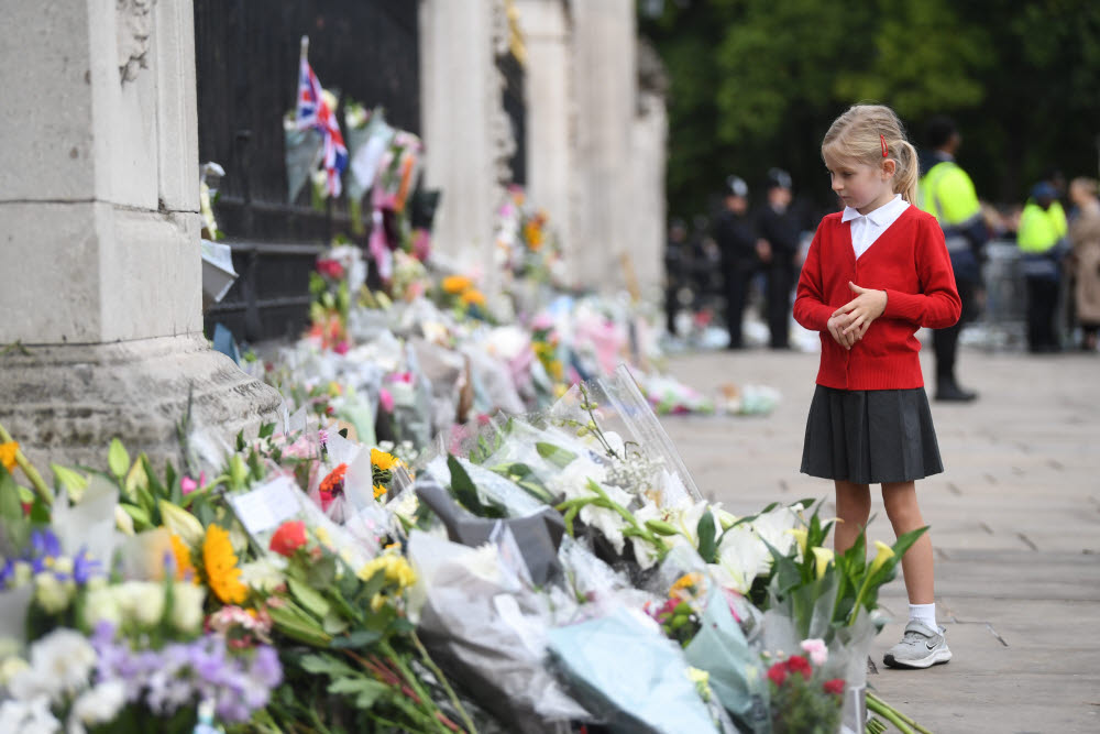
{"label": "weathered stepped stone base of the large left foreground pillar", "polygon": [[282,396],[201,335],[98,344],[9,347],[0,355],[0,424],[44,474],[48,462],[107,468],[118,437],[158,471],[180,465],[176,427],[191,396],[193,427],[232,445],[279,420]]}

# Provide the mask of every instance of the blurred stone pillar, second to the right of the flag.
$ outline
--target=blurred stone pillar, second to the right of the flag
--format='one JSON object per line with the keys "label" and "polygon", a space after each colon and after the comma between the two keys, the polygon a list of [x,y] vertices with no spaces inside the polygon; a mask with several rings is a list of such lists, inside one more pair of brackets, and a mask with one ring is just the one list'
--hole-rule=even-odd
{"label": "blurred stone pillar, second to the right of the flag", "polygon": [[[572,23],[565,0],[518,0],[516,9],[527,48],[527,189],[572,252]],[[570,275],[575,285],[579,273]]]}

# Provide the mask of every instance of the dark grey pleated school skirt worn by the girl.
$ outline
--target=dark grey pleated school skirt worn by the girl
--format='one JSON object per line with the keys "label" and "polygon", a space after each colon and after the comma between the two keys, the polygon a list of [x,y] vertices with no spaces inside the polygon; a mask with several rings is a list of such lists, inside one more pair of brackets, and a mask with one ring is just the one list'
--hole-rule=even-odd
{"label": "dark grey pleated school skirt worn by the girl", "polygon": [[806,418],[803,474],[879,484],[943,470],[923,387],[849,391],[817,385]]}

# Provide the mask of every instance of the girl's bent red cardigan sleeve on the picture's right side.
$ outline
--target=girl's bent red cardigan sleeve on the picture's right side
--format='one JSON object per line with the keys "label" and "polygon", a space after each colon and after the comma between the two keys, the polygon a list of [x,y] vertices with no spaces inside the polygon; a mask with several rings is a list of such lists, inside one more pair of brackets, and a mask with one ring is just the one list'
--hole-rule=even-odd
{"label": "girl's bent red cardigan sleeve on the picture's right side", "polygon": [[882,316],[901,318],[930,329],[945,329],[959,320],[963,302],[955,286],[955,271],[944,243],[944,232],[935,220],[922,223],[914,261],[922,293],[902,293],[887,288]]}

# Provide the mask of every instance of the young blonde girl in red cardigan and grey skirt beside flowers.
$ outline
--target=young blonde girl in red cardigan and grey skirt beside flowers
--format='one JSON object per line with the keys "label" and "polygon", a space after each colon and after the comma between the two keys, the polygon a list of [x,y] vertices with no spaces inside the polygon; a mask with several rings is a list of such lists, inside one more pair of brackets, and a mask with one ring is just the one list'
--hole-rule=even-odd
{"label": "young blonde girl in red cardigan and grey skirt beside flowers", "polygon": [[[944,233],[916,200],[916,151],[890,108],[857,105],[829,128],[822,157],[844,211],[817,227],[794,318],[822,335],[817,387],[802,472],[836,484],[836,552],[855,543],[871,508],[870,484],[894,533],[924,526],[915,480],[944,470],[914,336],[959,318]],[[952,659],[936,624],[932,539],[902,558],[910,622],[888,666]]]}

